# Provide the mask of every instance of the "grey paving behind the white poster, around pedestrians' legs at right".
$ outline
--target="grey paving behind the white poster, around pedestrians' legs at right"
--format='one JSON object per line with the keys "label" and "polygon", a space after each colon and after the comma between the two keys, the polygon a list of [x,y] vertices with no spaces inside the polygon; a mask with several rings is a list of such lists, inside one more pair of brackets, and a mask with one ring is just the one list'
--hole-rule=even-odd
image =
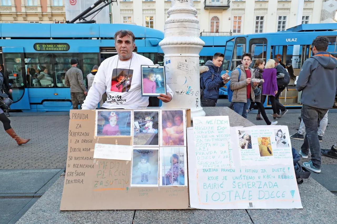
{"label": "grey paving behind the white poster, around pedestrians' legs at right", "polygon": [[[256,113],[254,110],[251,113],[248,113],[247,119],[254,123],[255,125],[266,125],[264,120],[256,120]],[[277,125],[287,125],[289,130],[289,135],[294,135],[298,132],[298,128],[300,127],[300,120],[298,117],[300,116],[300,113],[291,113],[291,110],[289,110],[288,113],[284,115],[284,117],[277,119],[278,121]],[[274,121],[273,117],[270,116],[270,114],[267,114],[270,121]],[[332,145],[334,145],[337,141],[337,113],[329,113],[328,114],[328,127],[325,130],[324,136],[323,136],[323,142],[320,142],[320,146],[322,149],[330,149]],[[296,140],[296,139],[290,139],[290,142],[292,144],[292,147],[297,149],[298,151],[301,149],[301,146],[303,144],[302,140]],[[303,159],[301,157],[301,162],[307,162],[310,159],[311,153],[309,152],[309,157],[307,159]],[[337,159],[333,159],[327,156],[322,155],[322,164],[337,164]]]}

